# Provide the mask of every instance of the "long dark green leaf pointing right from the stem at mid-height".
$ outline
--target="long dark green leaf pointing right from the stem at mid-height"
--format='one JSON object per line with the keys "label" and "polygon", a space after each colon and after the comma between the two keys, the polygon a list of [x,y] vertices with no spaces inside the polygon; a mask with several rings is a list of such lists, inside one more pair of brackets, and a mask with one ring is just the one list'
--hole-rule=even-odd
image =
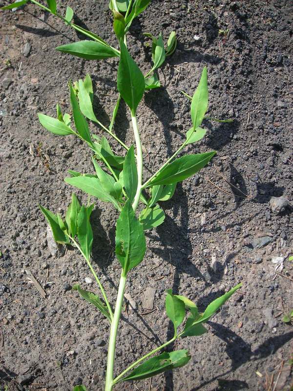
{"label": "long dark green leaf pointing right from the stem at mid-height", "polygon": [[212,151],[179,157],[179,159],[168,164],[147,186],[181,182],[205,167],[215,153],[216,151]]}

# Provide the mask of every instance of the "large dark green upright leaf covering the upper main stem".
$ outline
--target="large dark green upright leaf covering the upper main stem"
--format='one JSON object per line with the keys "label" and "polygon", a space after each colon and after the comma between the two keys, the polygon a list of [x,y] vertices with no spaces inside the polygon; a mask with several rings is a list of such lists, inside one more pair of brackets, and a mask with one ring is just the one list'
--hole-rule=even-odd
{"label": "large dark green upright leaf covering the upper main stem", "polygon": [[145,92],[145,77],[131,58],[122,39],[120,48],[117,88],[134,115]]}

